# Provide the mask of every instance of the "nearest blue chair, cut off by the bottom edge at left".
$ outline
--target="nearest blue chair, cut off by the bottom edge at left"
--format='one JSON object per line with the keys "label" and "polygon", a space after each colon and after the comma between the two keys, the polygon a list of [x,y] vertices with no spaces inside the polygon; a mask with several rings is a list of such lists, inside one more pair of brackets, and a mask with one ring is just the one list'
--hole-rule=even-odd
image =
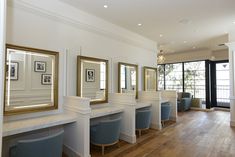
{"label": "nearest blue chair, cut off by the bottom edge at left", "polygon": [[10,148],[10,157],[61,157],[64,131],[38,139],[20,140]]}

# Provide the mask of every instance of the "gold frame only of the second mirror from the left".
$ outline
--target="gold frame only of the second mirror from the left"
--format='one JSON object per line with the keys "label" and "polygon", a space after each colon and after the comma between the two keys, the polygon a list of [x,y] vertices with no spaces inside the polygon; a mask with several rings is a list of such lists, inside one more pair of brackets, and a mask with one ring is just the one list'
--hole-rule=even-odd
{"label": "gold frame only of the second mirror from the left", "polygon": [[77,57],[77,96],[81,96],[81,87],[82,87],[82,82],[81,82],[81,63],[82,60],[87,60],[87,61],[95,61],[95,62],[105,62],[106,65],[106,75],[105,75],[105,99],[104,100],[97,100],[97,101],[90,101],[91,105],[95,104],[103,104],[103,103],[108,103],[108,90],[109,90],[109,61],[105,59],[100,59],[100,58],[94,58],[94,57],[86,57],[86,56],[78,56]]}

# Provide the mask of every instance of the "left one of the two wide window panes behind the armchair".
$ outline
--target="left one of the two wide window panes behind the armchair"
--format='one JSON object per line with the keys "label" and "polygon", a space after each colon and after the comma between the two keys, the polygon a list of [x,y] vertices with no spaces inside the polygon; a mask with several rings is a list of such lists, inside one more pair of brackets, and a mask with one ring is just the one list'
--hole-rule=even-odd
{"label": "left one of the two wide window panes behind the armchair", "polygon": [[165,89],[183,92],[182,63],[165,65]]}

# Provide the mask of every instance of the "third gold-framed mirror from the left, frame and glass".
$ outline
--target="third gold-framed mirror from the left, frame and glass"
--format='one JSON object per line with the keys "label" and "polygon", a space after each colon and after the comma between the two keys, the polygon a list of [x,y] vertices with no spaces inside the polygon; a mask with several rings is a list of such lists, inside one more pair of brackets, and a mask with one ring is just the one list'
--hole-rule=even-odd
{"label": "third gold-framed mirror from the left, frame and glass", "polygon": [[134,93],[138,98],[138,65],[118,63],[118,92]]}

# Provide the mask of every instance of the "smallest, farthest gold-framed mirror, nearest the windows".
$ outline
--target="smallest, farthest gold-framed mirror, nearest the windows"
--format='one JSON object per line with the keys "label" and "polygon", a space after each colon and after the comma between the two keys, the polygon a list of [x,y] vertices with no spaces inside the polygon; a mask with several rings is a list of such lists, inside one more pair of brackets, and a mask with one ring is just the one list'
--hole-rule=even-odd
{"label": "smallest, farthest gold-framed mirror, nearest the windows", "polygon": [[143,67],[144,68],[144,90],[157,91],[157,68]]}

